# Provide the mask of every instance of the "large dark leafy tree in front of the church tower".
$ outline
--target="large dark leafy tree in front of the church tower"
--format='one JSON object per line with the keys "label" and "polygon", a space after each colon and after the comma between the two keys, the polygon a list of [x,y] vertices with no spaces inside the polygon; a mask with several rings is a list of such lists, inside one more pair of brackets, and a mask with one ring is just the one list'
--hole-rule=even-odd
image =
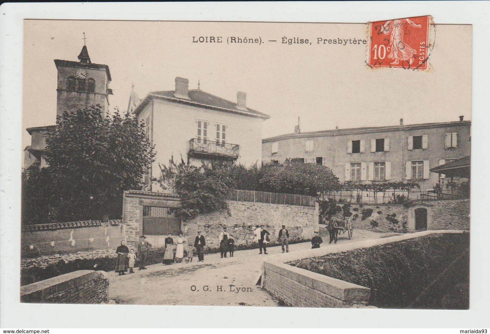
{"label": "large dark leafy tree in front of the church tower", "polygon": [[120,218],[123,191],[141,188],[155,156],[143,124],[119,112],[103,118],[98,105],[63,113],[46,143],[49,166],[39,174],[44,178],[32,180],[37,188],[24,200],[31,203],[44,194],[50,222]]}

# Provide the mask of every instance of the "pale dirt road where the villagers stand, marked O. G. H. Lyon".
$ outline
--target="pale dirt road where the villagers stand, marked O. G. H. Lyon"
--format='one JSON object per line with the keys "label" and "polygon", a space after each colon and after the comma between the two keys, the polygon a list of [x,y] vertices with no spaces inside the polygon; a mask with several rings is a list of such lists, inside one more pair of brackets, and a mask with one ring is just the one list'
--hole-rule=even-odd
{"label": "pale dirt road where the villagers stand, marked O. G. H. Lyon", "polygon": [[[378,239],[393,233],[354,230],[353,239],[339,237],[339,244]],[[329,247],[328,237],[321,247]],[[310,242],[290,245],[290,251],[310,249]],[[268,248],[269,254],[281,253],[281,246]],[[139,305],[214,305],[214,306],[279,306],[270,294],[255,285],[262,262],[267,255],[258,249],[236,251],[233,258],[220,254],[205,255],[204,262],[152,264],[147,270],[118,276],[110,272],[109,298],[117,304]]]}

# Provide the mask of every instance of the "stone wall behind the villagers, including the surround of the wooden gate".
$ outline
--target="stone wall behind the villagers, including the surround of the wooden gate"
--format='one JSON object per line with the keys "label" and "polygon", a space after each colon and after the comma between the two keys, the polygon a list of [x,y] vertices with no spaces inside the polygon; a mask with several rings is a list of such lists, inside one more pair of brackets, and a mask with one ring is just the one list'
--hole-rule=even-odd
{"label": "stone wall behind the villagers, including the surround of the wooden gate", "polygon": [[[152,201],[152,202],[148,202]],[[123,204],[123,222],[126,226],[126,241],[128,247],[134,247],[143,231],[143,204],[163,206],[180,203],[175,194],[165,194],[147,191],[125,191]],[[223,226],[233,236],[237,245],[247,245],[253,242],[253,231],[256,225],[264,225],[269,231],[271,243],[277,241],[281,226],[285,224],[290,233],[290,240],[308,240],[313,232],[319,230],[318,204],[315,208],[296,205],[253,203],[228,201],[230,215],[212,213],[199,215],[194,219],[182,222],[181,230],[184,238],[194,245],[197,231],[200,230],[206,238],[206,248],[219,247],[219,236]],[[146,236],[154,248],[163,248],[164,236]]]}

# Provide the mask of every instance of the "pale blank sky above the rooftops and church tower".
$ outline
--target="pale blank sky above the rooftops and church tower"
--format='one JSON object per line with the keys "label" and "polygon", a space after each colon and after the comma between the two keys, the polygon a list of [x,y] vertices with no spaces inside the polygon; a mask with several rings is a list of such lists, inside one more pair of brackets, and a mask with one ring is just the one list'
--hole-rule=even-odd
{"label": "pale blank sky above the rooftops and church tower", "polygon": [[[176,76],[203,91],[270,115],[262,138],[339,128],[471,119],[471,26],[437,25],[431,71],[369,69],[368,45],[317,44],[317,38],[368,39],[366,24],[213,23],[25,20],[23,128],[56,118],[54,59],[77,61],[86,45],[93,63],[109,66],[110,110],[127,109],[131,86],[143,98],[173,90]],[[193,43],[221,36],[223,43]],[[261,44],[228,44],[227,37]],[[283,44],[282,38],[309,44]],[[278,42],[268,42],[277,40]],[[23,130],[23,148],[30,144]]]}

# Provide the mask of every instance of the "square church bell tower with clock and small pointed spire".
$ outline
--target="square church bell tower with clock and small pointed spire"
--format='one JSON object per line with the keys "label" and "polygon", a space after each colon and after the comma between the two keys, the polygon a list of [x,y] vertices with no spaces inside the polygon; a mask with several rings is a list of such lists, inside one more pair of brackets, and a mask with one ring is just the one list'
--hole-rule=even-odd
{"label": "square church bell tower with clock and small pointed spire", "polygon": [[58,70],[56,116],[98,104],[105,117],[112,95],[109,67],[92,63],[86,45],[78,55],[78,62],[55,59],[54,64]]}

